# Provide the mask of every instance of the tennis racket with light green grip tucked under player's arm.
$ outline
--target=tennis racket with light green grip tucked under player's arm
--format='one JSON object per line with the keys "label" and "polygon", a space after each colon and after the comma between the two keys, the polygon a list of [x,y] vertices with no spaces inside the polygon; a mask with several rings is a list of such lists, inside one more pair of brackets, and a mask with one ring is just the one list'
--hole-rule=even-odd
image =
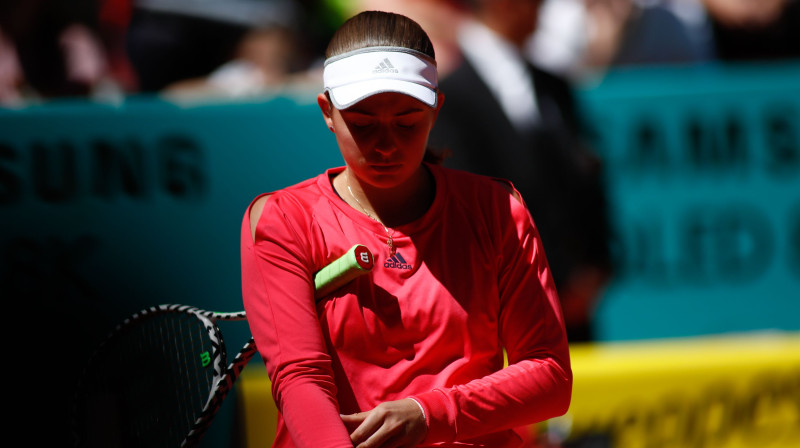
{"label": "tennis racket with light green grip tucked under player's arm", "polygon": [[[374,257],[355,245],[314,276],[315,298],[369,272]],[[187,305],[143,309],[98,347],[78,384],[72,429],[79,447],[196,446],[256,354],[252,337],[228,364],[217,323],[243,321]]]}

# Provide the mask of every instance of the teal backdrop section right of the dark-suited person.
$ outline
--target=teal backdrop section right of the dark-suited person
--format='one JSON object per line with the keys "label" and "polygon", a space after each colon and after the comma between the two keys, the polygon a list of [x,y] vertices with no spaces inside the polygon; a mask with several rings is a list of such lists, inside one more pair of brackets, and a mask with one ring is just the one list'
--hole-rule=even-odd
{"label": "teal backdrop section right of the dark-suited person", "polygon": [[800,328],[800,65],[616,71],[582,99],[617,234],[600,339]]}

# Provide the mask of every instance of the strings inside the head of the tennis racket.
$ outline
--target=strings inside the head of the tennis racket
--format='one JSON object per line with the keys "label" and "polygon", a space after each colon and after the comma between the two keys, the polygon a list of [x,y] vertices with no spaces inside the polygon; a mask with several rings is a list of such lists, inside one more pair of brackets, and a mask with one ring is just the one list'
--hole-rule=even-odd
{"label": "strings inside the head of the tennis racket", "polygon": [[87,446],[179,446],[213,386],[215,344],[187,313],[143,316],[119,332],[84,381]]}

